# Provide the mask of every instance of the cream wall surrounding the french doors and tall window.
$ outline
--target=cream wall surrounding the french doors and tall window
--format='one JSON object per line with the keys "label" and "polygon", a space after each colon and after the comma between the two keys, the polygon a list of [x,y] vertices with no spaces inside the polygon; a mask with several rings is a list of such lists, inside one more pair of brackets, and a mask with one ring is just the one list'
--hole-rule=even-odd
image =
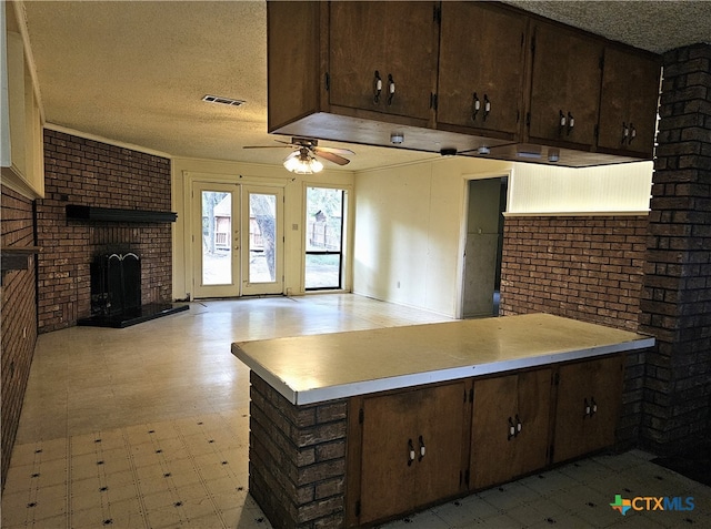
{"label": "cream wall surrounding the french doors and tall window", "polygon": [[[328,171],[313,175],[294,175],[280,165],[262,165],[214,160],[172,160],[172,207],[178,213],[173,225],[173,298],[184,299],[192,293],[194,275],[190,226],[193,225],[190,193],[196,181],[278,186],[284,190],[284,294],[300,295],[303,289],[303,240],[306,187],[336,185],[349,191],[352,202],[353,173]],[[348,207],[353,211],[352,205]],[[352,214],[350,215],[352,218]],[[346,220],[352,233],[352,221]],[[349,236],[349,241],[352,236]],[[346,258],[350,257],[347,248]],[[347,261],[348,263],[348,261]],[[347,264],[344,289],[351,287]]]}

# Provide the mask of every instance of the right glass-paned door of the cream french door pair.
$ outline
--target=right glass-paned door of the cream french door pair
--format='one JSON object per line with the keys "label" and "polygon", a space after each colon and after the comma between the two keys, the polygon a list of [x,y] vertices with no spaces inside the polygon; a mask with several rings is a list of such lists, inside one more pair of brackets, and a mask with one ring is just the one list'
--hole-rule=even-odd
{"label": "right glass-paned door of the cream french door pair", "polygon": [[242,294],[283,293],[282,189],[242,186]]}

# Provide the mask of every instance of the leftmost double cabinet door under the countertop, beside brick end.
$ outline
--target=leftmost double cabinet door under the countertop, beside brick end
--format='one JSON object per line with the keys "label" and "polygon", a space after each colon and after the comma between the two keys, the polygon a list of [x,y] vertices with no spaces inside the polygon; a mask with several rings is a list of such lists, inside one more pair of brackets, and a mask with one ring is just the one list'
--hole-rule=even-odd
{"label": "leftmost double cabinet door under the countertop, beside brick end", "polygon": [[464,394],[455,383],[363,399],[360,525],[458,492]]}

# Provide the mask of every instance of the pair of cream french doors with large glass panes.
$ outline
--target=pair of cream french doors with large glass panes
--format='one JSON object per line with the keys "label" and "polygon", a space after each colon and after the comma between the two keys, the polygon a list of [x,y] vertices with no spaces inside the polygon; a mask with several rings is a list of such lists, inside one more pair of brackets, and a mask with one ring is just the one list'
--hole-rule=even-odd
{"label": "pair of cream french doors with large glass panes", "polygon": [[193,297],[283,291],[283,190],[194,182]]}

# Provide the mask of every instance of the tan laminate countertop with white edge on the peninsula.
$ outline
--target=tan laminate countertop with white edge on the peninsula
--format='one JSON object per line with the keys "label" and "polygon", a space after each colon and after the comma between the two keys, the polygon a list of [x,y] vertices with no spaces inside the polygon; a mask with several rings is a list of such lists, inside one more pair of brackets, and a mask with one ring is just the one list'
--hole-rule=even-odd
{"label": "tan laminate countertop with white edge on the peninsula", "polygon": [[232,344],[294,405],[644,349],[654,338],[550,314]]}

